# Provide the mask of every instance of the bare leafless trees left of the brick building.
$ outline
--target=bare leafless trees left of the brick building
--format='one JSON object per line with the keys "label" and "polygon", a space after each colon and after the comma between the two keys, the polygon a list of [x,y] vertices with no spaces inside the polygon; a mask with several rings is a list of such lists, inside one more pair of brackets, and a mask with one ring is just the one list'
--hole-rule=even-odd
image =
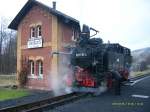
{"label": "bare leafless trees left of the brick building", "polygon": [[16,32],[7,28],[6,18],[0,20],[0,74],[16,73]]}

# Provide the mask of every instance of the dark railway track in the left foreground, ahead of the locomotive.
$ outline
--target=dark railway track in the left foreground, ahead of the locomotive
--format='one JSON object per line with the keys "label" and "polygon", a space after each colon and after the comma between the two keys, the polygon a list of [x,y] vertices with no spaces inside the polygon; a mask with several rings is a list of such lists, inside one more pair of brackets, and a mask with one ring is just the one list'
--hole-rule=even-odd
{"label": "dark railway track in the left foreground, ahead of the locomotive", "polygon": [[43,112],[60,105],[75,101],[81,97],[86,96],[83,93],[70,93],[52,98],[39,100],[27,104],[21,104],[12,107],[6,107],[0,109],[0,112]]}

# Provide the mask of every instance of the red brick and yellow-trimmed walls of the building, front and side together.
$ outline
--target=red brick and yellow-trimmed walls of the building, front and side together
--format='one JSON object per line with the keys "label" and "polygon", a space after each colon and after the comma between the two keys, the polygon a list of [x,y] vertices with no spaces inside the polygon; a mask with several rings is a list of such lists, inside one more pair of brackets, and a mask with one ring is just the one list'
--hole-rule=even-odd
{"label": "red brick and yellow-trimmed walls of the building, front and side together", "polygon": [[[30,28],[42,26],[42,48],[27,48],[30,38]],[[58,67],[60,56],[51,55],[53,51],[64,51],[64,44],[70,43],[72,37],[72,27],[62,23],[56,16],[49,14],[42,8],[34,6],[24,17],[18,27],[18,47],[17,47],[17,71],[21,70],[21,60],[27,58],[43,61],[43,78],[28,78],[27,87],[33,89],[51,90],[52,75],[59,75]],[[34,65],[36,68],[36,64]],[[37,75],[35,70],[35,75]]]}

